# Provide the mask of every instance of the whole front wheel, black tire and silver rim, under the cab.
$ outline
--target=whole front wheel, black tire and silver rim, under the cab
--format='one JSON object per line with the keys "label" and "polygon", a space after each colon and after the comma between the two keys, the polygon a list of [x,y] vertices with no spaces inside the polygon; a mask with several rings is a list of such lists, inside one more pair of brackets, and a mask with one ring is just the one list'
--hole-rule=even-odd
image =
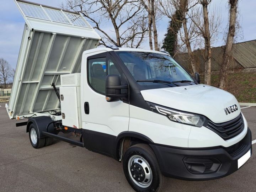
{"label": "whole front wheel, black tire and silver rim, under the cab", "polygon": [[153,150],[146,144],[133,145],[126,151],[123,170],[135,191],[160,191],[166,180]]}

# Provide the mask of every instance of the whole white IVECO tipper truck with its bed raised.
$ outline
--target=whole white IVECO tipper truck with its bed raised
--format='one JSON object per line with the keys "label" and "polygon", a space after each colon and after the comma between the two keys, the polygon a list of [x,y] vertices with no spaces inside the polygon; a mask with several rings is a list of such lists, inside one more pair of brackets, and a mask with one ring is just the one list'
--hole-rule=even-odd
{"label": "whole white IVECO tipper truck with its bed raised", "polygon": [[136,191],[160,191],[166,177],[224,177],[250,158],[251,131],[230,93],[168,53],[96,48],[80,14],[15,3],[26,24],[6,110],[27,119],[16,125],[34,148],[55,138],[111,156]]}

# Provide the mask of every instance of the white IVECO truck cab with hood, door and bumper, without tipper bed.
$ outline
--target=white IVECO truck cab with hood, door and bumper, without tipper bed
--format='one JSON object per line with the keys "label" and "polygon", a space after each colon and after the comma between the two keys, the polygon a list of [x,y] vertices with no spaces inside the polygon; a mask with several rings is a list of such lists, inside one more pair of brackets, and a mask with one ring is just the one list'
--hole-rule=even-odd
{"label": "white IVECO truck cab with hood, door and bumper, without tipper bed", "polygon": [[151,169],[145,157],[129,155],[138,144],[150,147],[161,174],[185,180],[229,175],[251,156],[251,132],[236,98],[198,84],[167,53],[85,51],[80,100],[85,147],[123,161],[127,180],[138,190],[153,185],[139,170],[131,171],[134,165]]}

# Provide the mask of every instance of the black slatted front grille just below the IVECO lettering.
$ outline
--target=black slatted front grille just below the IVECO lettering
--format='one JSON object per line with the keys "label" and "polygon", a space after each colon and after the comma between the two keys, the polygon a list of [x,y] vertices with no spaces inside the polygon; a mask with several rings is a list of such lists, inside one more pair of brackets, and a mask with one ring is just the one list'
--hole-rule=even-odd
{"label": "black slatted front grille just below the IVECO lettering", "polygon": [[240,113],[238,117],[224,123],[214,123],[208,119],[205,126],[217,133],[224,140],[228,140],[244,130],[244,120],[242,118],[242,114]]}

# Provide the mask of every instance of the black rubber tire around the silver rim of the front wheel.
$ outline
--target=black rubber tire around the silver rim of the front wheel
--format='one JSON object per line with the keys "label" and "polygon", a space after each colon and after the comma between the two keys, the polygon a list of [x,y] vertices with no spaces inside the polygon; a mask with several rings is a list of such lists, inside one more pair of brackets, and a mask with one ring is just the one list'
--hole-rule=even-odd
{"label": "black rubber tire around the silver rim of the front wheel", "polygon": [[[134,156],[141,156],[142,158],[144,158],[144,160],[146,160],[148,162],[150,169],[151,169],[151,173],[152,173],[152,176],[151,176],[152,182],[149,186],[144,186],[144,187],[138,186],[135,183],[136,181],[134,182],[134,179],[130,176],[129,171],[131,172],[131,174],[133,174],[133,173],[132,173],[132,167],[128,167],[128,163],[129,163],[129,159],[131,158],[131,160],[132,160]],[[131,161],[131,162],[133,162],[133,161]],[[137,166],[137,168],[138,167],[139,166]],[[134,169],[137,169],[137,168],[134,168]],[[156,156],[155,156],[153,150],[150,148],[149,145],[146,145],[146,144],[133,145],[126,151],[126,153],[124,154],[124,157],[123,157],[123,171],[124,171],[124,175],[126,176],[126,179],[129,182],[130,186],[132,186],[132,188],[135,191],[139,191],[139,192],[161,191],[161,189],[164,186],[165,181],[166,181],[166,177],[163,176],[161,173],[161,170],[160,170],[160,167],[158,164],[158,160],[156,159]],[[145,178],[143,178],[143,177],[141,177],[141,178],[143,181],[146,181]],[[138,182],[139,181],[137,181],[137,183]]]}

